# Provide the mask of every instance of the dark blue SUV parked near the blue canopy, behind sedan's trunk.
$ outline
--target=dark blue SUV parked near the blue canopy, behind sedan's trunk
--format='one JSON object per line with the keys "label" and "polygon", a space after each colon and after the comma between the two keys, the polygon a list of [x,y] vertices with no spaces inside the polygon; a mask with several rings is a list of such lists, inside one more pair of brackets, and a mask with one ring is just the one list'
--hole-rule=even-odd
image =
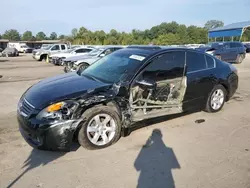
{"label": "dark blue SUV parked near the blue canopy, behind sedan's trunk", "polygon": [[246,57],[246,48],[241,42],[212,43],[197,50],[207,52],[222,61],[230,63],[242,63]]}

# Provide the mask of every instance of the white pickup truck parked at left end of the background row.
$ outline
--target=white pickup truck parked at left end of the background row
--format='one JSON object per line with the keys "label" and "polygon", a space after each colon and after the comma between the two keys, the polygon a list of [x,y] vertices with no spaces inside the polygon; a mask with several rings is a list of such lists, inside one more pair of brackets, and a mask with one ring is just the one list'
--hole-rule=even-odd
{"label": "white pickup truck parked at left end of the background row", "polygon": [[45,48],[41,48],[38,50],[33,50],[33,58],[37,61],[46,60],[47,57],[52,54],[56,54],[59,52],[66,52],[68,50],[68,46],[66,44],[54,44],[49,45]]}

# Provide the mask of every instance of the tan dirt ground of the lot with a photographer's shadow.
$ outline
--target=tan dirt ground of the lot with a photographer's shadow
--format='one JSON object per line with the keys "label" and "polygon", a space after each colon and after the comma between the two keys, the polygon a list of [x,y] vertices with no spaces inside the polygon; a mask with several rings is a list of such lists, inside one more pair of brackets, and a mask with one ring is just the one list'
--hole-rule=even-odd
{"label": "tan dirt ground of the lot with a photographer's shadow", "polygon": [[62,153],[32,149],[16,122],[22,93],[62,67],[0,58],[0,187],[250,188],[250,55],[236,67],[239,89],[219,113],[142,122],[109,148]]}

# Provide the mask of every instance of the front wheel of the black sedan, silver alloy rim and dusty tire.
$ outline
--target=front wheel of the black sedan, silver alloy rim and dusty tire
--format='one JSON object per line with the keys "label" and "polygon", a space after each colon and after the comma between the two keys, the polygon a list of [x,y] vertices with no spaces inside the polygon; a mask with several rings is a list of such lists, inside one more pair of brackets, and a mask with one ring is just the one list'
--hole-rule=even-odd
{"label": "front wheel of the black sedan, silver alloy rim and dusty tire", "polygon": [[[99,118],[104,115],[110,116],[111,120],[106,124],[108,126],[104,126],[105,123],[103,123],[106,119],[102,120]],[[89,150],[102,149],[116,143],[119,140],[121,136],[121,118],[113,106],[95,106],[86,110],[82,117],[84,117],[84,122],[78,133],[78,142],[82,147]],[[99,127],[95,120],[96,117],[98,117],[97,119],[101,121],[101,124],[99,124],[101,126]],[[103,131],[102,128],[104,127],[106,127],[105,129],[109,128],[111,131]],[[106,137],[104,137],[104,135],[106,135]],[[107,143],[105,143],[103,137],[108,139]]]}

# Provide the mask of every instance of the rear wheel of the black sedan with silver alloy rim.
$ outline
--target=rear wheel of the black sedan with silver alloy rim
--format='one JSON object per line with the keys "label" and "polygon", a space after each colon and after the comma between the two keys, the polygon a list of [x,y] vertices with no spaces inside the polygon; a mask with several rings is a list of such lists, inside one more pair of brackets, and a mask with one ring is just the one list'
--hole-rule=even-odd
{"label": "rear wheel of the black sedan with silver alloy rim", "polygon": [[205,111],[209,113],[220,111],[225,104],[226,96],[226,89],[220,84],[216,85],[207,98]]}

